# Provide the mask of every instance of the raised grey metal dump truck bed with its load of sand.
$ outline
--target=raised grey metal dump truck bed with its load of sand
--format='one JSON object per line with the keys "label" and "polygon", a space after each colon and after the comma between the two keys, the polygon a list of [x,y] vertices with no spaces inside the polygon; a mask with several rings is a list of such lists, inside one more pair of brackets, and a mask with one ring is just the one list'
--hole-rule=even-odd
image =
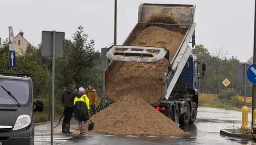
{"label": "raised grey metal dump truck bed with its load of sand", "polygon": [[191,54],[194,12],[194,5],[140,5],[124,44],[102,48],[103,89],[110,101],[132,95],[157,106],[168,100]]}

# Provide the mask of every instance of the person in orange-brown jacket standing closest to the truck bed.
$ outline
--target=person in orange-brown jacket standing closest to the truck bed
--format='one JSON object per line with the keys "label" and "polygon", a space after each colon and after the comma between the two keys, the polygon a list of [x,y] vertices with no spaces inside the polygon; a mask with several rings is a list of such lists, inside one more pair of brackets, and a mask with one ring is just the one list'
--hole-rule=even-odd
{"label": "person in orange-brown jacket standing closest to the truck bed", "polygon": [[94,90],[92,85],[89,85],[85,91],[85,94],[90,100],[91,113],[94,115],[96,113],[95,106],[98,100],[97,90]]}

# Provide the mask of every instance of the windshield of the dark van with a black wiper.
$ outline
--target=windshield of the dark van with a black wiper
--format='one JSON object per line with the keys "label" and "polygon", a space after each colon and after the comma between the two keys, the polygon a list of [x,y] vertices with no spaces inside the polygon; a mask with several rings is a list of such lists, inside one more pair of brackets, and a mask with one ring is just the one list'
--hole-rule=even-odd
{"label": "windshield of the dark van with a black wiper", "polygon": [[[22,80],[0,79],[0,86],[3,86],[7,91],[10,91],[21,105],[26,105],[27,101],[29,101],[29,82]],[[15,105],[15,102],[7,92],[0,87],[0,106],[6,105],[13,106]]]}

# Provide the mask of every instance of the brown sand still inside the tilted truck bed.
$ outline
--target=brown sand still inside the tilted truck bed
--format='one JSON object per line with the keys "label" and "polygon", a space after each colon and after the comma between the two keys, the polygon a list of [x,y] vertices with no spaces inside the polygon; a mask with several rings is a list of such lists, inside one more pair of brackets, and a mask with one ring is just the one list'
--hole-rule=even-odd
{"label": "brown sand still inside the tilted truck bed", "polygon": [[[164,47],[174,57],[183,37],[179,32],[149,26],[137,33],[128,45]],[[162,96],[163,75],[167,69],[165,58],[154,63],[114,61],[106,74],[106,94],[112,101],[131,95],[154,104]]]}

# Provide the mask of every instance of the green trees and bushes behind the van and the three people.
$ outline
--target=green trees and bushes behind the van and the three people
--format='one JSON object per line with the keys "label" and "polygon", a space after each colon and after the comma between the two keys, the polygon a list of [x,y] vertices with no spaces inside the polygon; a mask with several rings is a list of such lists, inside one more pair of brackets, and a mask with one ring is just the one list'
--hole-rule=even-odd
{"label": "green trees and bushes behind the van and the three people", "polygon": [[[94,40],[88,39],[84,29],[79,26],[73,34],[72,40],[65,40],[65,53],[63,58],[56,58],[55,66],[55,117],[63,111],[60,96],[64,87],[71,81],[77,86],[87,87],[93,85],[102,92],[102,73],[100,53],[94,50]],[[16,55],[16,68],[8,67],[8,40],[0,45],[0,72],[27,72],[33,80],[34,99],[41,98],[45,109],[42,113],[35,114],[35,122],[48,120],[49,98],[51,95],[51,58],[42,57],[42,47],[28,46],[22,55]]]}

